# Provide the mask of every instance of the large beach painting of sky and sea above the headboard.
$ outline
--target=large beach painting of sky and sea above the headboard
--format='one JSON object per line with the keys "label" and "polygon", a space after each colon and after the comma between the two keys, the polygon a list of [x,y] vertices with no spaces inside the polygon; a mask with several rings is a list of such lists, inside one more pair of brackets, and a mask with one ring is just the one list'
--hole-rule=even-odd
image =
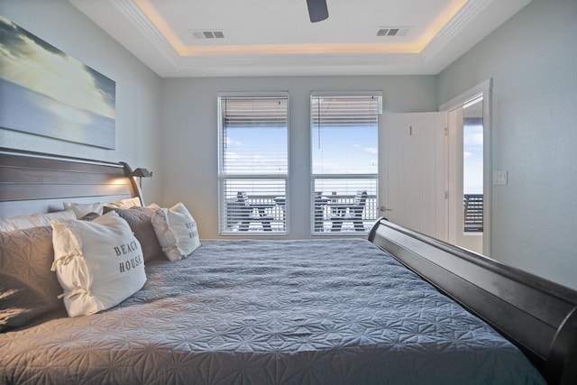
{"label": "large beach painting of sky and sea above the headboard", "polygon": [[114,80],[0,16],[0,127],[114,149]]}

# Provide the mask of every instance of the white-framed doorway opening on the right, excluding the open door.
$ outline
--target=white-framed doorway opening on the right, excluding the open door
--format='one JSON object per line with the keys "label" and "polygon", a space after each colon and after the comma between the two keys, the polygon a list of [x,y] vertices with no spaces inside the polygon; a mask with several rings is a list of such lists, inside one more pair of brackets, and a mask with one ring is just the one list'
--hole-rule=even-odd
{"label": "white-framed doorway opening on the right, excluding the open door", "polygon": [[448,242],[490,255],[490,79],[442,105]]}

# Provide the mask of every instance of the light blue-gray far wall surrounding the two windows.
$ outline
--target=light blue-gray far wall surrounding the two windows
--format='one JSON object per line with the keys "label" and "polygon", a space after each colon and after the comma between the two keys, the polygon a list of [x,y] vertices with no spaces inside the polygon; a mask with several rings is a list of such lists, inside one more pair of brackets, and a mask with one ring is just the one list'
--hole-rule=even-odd
{"label": "light blue-gray far wall surrounding the two windows", "polygon": [[218,237],[216,94],[289,91],[289,237],[310,237],[309,97],[311,91],[330,90],[382,90],[385,112],[436,109],[434,76],[164,79],[164,181],[170,187],[165,189],[165,204],[182,201],[197,219],[200,236]]}

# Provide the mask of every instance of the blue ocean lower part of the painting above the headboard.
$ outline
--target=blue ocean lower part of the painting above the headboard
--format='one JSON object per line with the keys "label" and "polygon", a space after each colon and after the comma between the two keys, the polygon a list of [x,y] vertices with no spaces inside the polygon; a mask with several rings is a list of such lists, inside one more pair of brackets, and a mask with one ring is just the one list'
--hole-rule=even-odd
{"label": "blue ocean lower part of the painting above the headboard", "polygon": [[0,127],[114,149],[114,119],[0,78]]}

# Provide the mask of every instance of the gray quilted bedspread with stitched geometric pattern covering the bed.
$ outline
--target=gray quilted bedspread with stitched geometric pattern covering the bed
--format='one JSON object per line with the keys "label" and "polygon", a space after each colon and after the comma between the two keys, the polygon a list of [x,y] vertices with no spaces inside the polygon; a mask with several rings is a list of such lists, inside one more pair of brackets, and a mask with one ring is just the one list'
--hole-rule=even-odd
{"label": "gray quilted bedspread with stitched geometric pattern covering the bed", "polygon": [[205,241],[108,311],[0,335],[1,383],[543,383],[372,243]]}

